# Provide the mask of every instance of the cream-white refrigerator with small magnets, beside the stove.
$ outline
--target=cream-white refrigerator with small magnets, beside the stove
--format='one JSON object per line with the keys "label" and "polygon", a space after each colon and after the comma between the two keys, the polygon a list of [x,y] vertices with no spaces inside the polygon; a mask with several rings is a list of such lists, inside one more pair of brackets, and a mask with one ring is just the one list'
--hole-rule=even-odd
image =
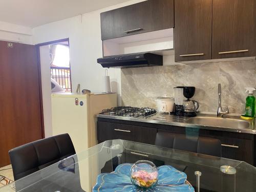
{"label": "cream-white refrigerator with small magnets, beside the stove", "polygon": [[52,94],[53,135],[68,133],[76,153],[97,144],[96,115],[117,106],[117,94]]}

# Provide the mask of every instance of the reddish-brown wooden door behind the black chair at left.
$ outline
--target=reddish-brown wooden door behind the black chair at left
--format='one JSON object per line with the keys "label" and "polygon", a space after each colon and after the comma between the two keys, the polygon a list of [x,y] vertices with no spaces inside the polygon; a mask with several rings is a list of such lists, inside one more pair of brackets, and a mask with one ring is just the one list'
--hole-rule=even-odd
{"label": "reddish-brown wooden door behind the black chair at left", "polygon": [[9,150],[42,138],[39,83],[35,46],[0,41],[0,167]]}

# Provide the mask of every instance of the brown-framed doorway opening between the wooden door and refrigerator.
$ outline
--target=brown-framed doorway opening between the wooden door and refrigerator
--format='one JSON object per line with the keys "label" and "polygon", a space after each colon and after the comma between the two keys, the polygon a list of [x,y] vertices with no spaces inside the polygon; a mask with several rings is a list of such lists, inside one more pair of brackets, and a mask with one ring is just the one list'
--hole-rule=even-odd
{"label": "brown-framed doorway opening between the wooden door and refrigerator", "polygon": [[45,137],[52,136],[52,94],[72,93],[69,39],[37,44]]}

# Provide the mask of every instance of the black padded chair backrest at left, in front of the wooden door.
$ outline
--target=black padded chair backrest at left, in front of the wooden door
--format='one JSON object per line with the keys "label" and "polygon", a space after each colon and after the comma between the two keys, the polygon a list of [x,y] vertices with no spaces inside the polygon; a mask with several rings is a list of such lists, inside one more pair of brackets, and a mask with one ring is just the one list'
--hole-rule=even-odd
{"label": "black padded chair backrest at left, in front of the wooden door", "polygon": [[69,134],[61,134],[18,146],[9,151],[14,180],[74,155]]}

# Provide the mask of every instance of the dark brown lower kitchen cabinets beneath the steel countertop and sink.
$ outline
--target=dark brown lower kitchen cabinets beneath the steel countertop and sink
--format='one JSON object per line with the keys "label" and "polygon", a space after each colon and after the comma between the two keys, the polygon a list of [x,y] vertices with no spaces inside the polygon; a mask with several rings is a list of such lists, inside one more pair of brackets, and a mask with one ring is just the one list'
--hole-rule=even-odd
{"label": "dark brown lower kitchen cabinets beneath the steel countertop and sink", "polygon": [[140,143],[155,144],[158,131],[179,133],[219,139],[222,143],[222,157],[245,161],[256,165],[256,136],[253,134],[195,129],[162,124],[103,119],[97,122],[98,141],[123,139]]}

